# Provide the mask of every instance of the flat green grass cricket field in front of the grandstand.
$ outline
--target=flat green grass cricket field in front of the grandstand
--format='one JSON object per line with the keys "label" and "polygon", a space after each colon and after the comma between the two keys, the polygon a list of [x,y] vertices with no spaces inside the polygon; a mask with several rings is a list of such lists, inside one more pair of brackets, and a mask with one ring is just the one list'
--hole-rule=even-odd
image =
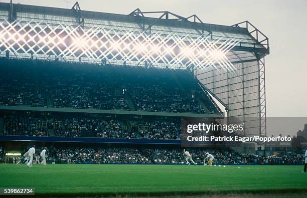
{"label": "flat green grass cricket field in front of the grandstand", "polygon": [[302,166],[0,164],[0,187],[67,195],[297,193],[307,191],[307,173],[301,170]]}

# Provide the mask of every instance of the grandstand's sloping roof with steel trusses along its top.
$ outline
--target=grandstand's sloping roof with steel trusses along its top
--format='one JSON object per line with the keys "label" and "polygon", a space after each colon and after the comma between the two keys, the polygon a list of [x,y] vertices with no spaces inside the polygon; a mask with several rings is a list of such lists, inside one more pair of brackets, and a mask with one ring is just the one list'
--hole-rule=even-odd
{"label": "grandstand's sloping roof with steel trusses along its top", "polygon": [[[152,18],[149,17],[149,15],[158,15],[160,17]],[[9,3],[0,3],[0,34],[1,31],[3,31],[5,27],[10,26],[10,24],[18,24],[21,29],[24,28],[25,30],[29,27],[31,27],[33,30],[37,29],[38,24],[41,30],[46,27],[57,31],[65,29],[65,31],[67,32],[67,29],[69,29],[69,31],[82,29],[81,31],[83,31],[83,34],[89,31],[95,32],[103,30],[106,31],[108,35],[117,35],[117,37],[127,33],[133,33],[134,36],[142,35],[142,40],[147,39],[147,37],[159,37],[159,44],[161,44],[162,40],[164,42],[166,39],[168,39],[169,35],[173,35],[173,37],[176,37],[177,40],[181,40],[182,43],[193,43],[197,41],[198,43],[195,44],[195,46],[197,46],[195,48],[196,51],[202,50],[204,48],[204,43],[208,45],[214,43],[215,48],[217,48],[218,50],[224,50],[228,59],[227,61],[231,63],[253,61],[269,54],[268,38],[247,21],[235,24],[233,26],[206,24],[203,23],[196,15],[192,15],[190,17],[182,17],[168,11],[141,12],[139,9],[136,9],[130,14],[120,15],[83,11],[81,10],[78,3],[76,3],[72,7],[72,9],[49,8],[21,4],[13,4],[11,6],[11,4]],[[16,27],[17,26],[15,26],[14,28]],[[0,39],[1,37],[2,35],[0,35]],[[130,37],[130,35],[125,35],[125,37]],[[98,38],[98,35],[95,35],[95,38]],[[108,37],[106,37],[105,39],[107,38]],[[5,38],[5,36],[3,36],[2,39],[3,40],[0,40],[0,52],[3,55],[6,50],[10,50],[10,45],[4,44],[6,43],[8,38]],[[112,37],[111,39],[114,39],[114,37]],[[128,41],[131,42],[130,40]],[[78,42],[80,42],[80,40],[78,40]],[[154,41],[152,43],[154,43]],[[177,47],[180,45],[181,44],[177,44]],[[11,45],[11,47],[12,46],[13,44]],[[226,47],[224,48],[219,46]],[[18,48],[19,51],[20,47],[21,46],[19,46]],[[30,51],[33,51],[34,49],[34,47],[33,49],[31,49],[31,47],[29,46],[27,47],[30,48]],[[76,49],[76,51],[78,50],[80,49]],[[27,49],[24,49],[24,51],[30,52]],[[39,49],[37,51],[41,52],[42,49]],[[15,50],[15,52],[17,52],[17,50]],[[57,52],[54,52],[54,54],[56,53]],[[124,58],[121,59],[129,60],[129,58],[132,56],[132,58],[130,58],[131,60],[144,60],[131,55],[133,53],[135,54],[135,51],[131,54],[127,54],[123,50],[115,55],[112,54],[112,52],[110,51],[108,56],[97,55],[97,57],[95,58],[104,57],[109,59],[109,56],[111,54],[112,58],[116,59],[118,57],[118,54],[121,55],[122,53],[124,53]],[[151,51],[151,53],[155,52]],[[44,52],[41,54],[44,54]],[[84,54],[81,53],[80,55],[79,53],[78,56],[82,57],[84,56]],[[144,54],[142,56],[146,57],[147,54],[146,56]],[[77,56],[75,55],[74,58],[76,57]],[[186,58],[193,59],[195,57]],[[167,58],[162,58],[161,56],[159,58],[149,57],[149,59],[150,61],[154,60],[157,62],[160,61],[163,63],[170,63],[170,61],[166,60]],[[176,55],[175,59],[180,59],[176,63],[183,63],[185,57],[180,57],[179,55]],[[189,64],[197,65],[202,63],[202,61],[198,60],[197,63],[195,63],[194,61]]]}

